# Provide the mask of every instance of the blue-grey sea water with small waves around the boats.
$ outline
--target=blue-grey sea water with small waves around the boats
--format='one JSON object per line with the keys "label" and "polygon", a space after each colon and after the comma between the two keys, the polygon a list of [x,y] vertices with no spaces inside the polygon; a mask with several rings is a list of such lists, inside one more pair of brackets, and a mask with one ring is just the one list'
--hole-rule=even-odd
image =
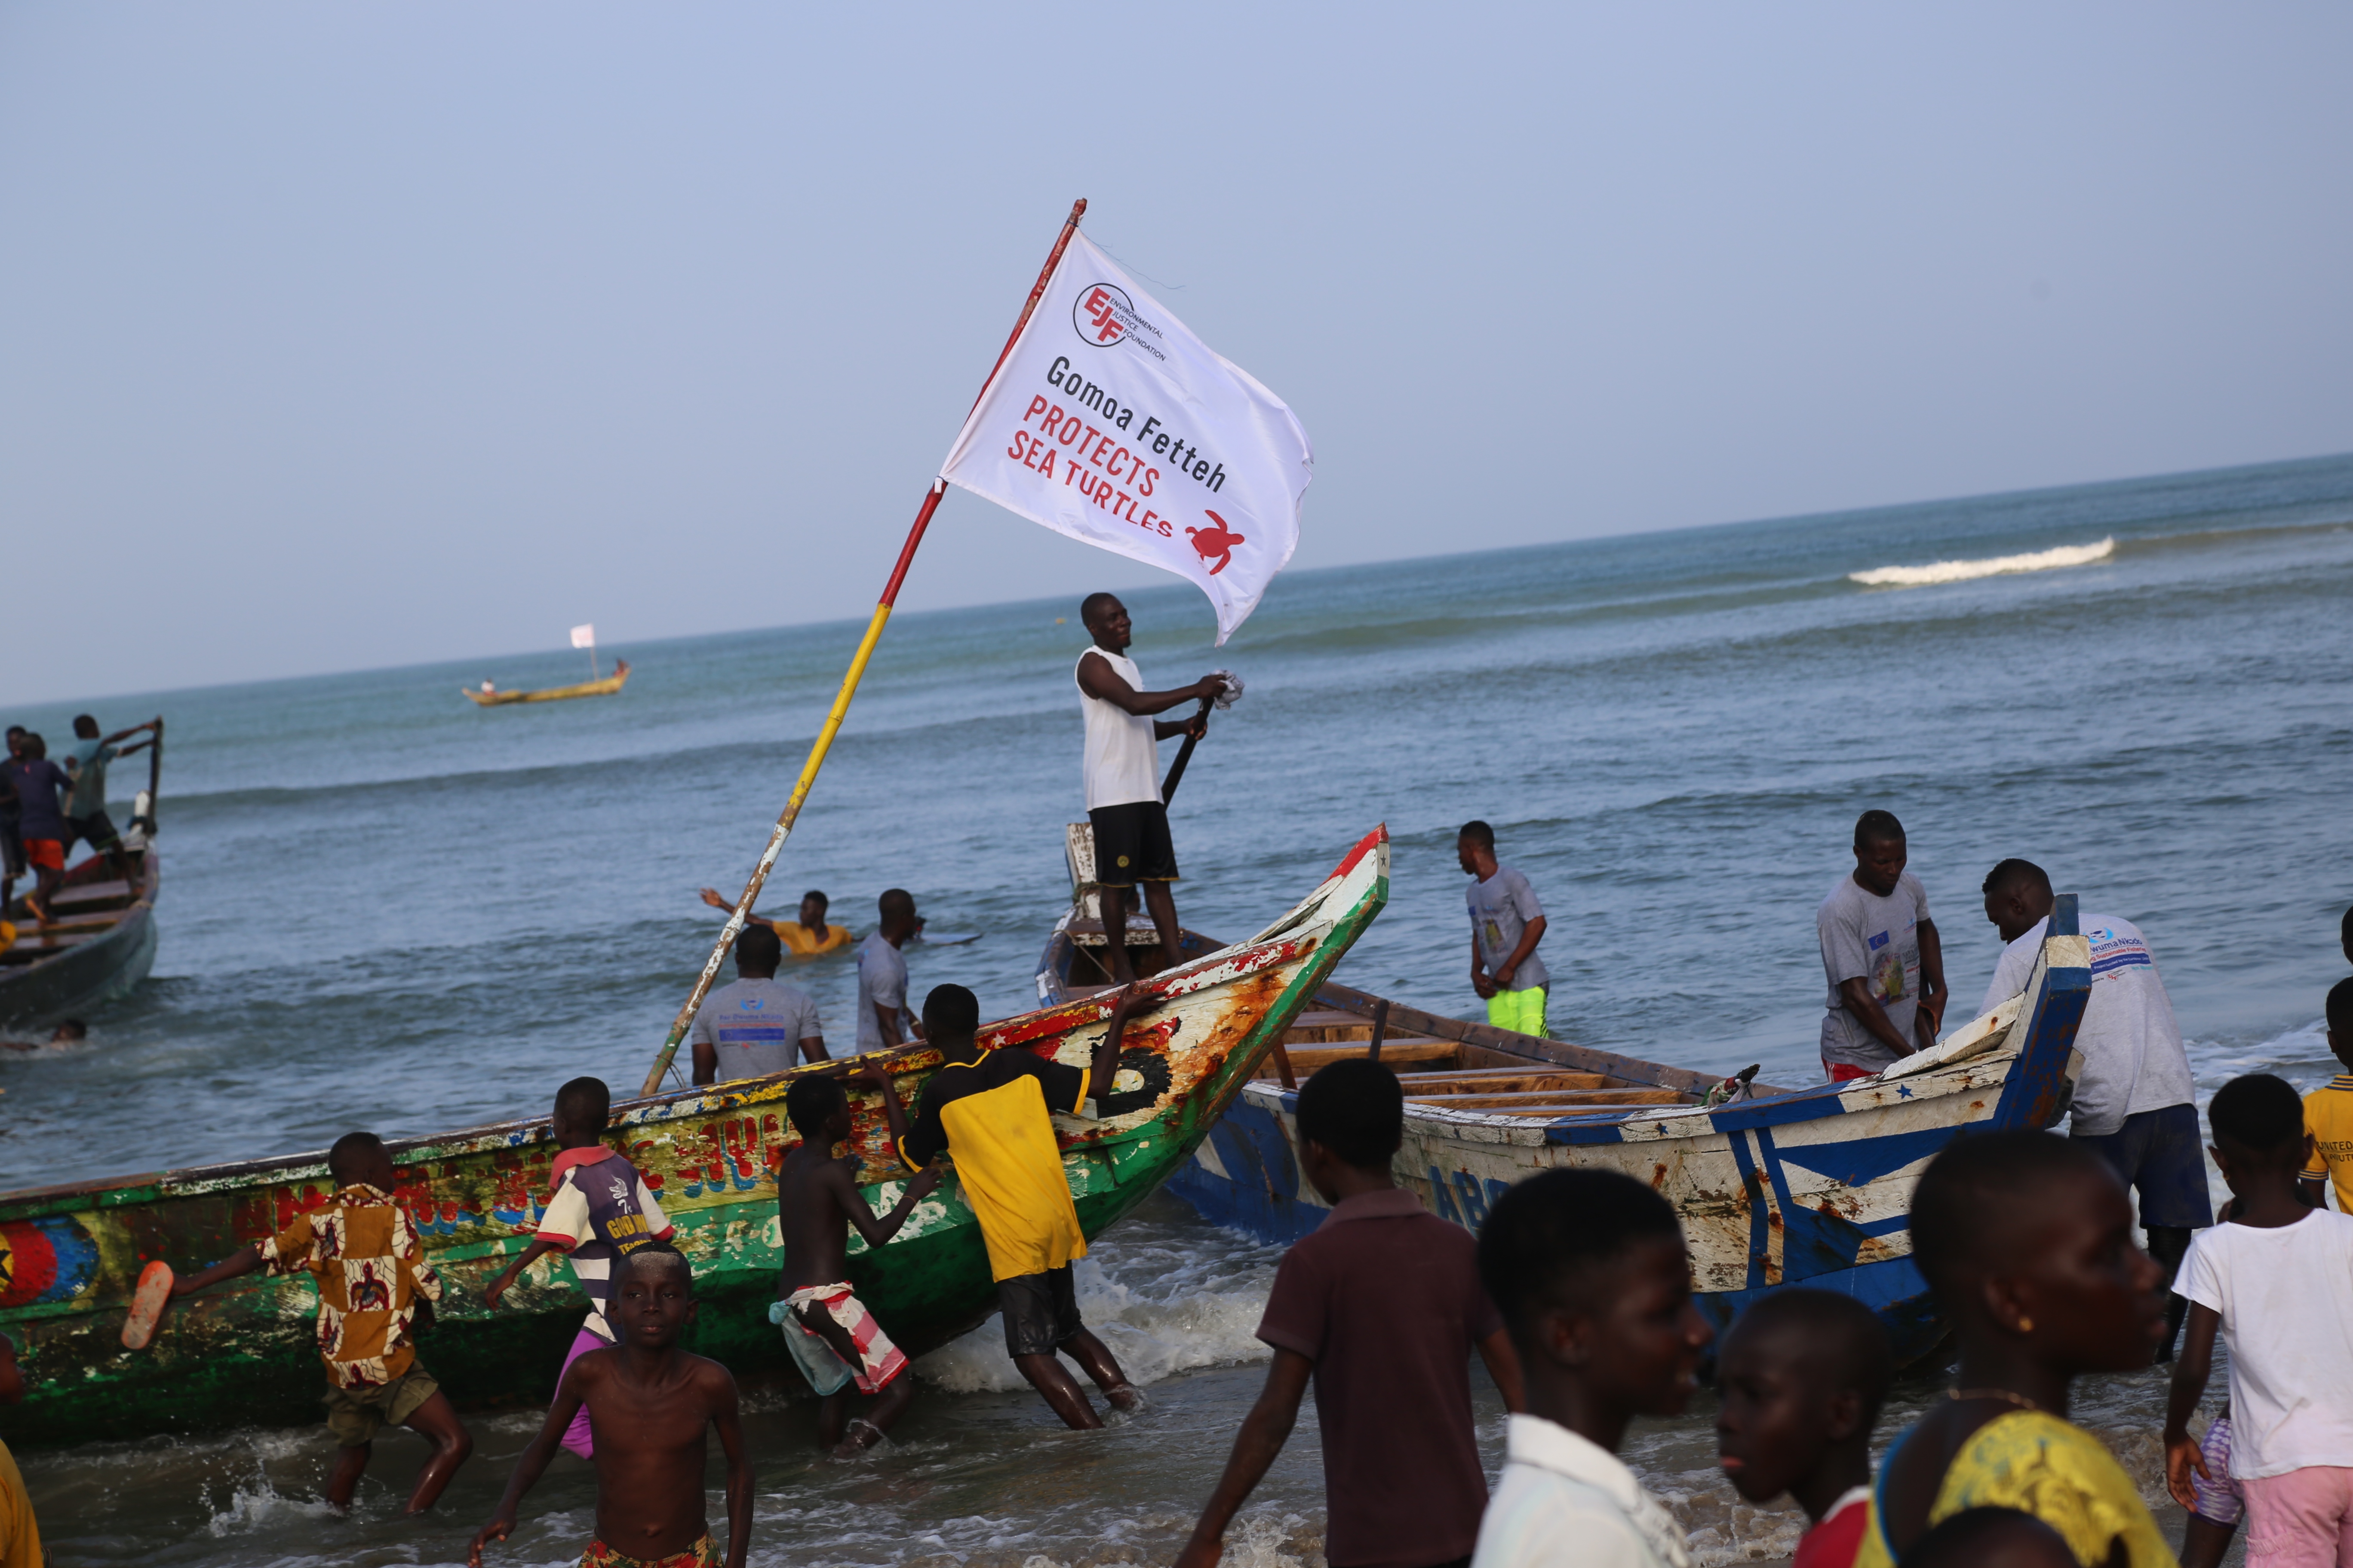
{"label": "blue-grey sea water with small waves around the boats", "polygon": [[[1311,501],[1308,527],[1346,520]],[[1257,929],[1388,823],[1391,903],[1341,978],[1475,1016],[1454,830],[1485,818],[1551,914],[1558,1037],[1802,1084],[1814,905],[1852,865],[1854,816],[1885,806],[1955,1016],[1998,952],[1977,884],[2026,856],[2148,933],[2200,1093],[2332,1067],[2353,458],[1297,571],[1226,649],[1191,588],[1125,597],[1146,679],[1249,682],[1172,806],[1193,929]],[[89,1016],[85,1048],[0,1063],[0,1187],[544,1114],[579,1072],[635,1086],[720,922],[696,889],[741,886],[859,630],[619,649],[628,689],[584,703],[456,691],[586,675],[548,654],[0,715],[52,736],[85,708],[108,729],[169,717],[155,976]],[[819,886],[864,933],[904,886],[929,933],[976,938],[911,947],[918,997],[958,980],[991,1013],[1026,1006],[1082,816],[1082,649],[1061,602],[894,621],[762,910]],[[788,978],[847,1044],[847,954]],[[1264,1378],[1275,1262],[1167,1197],[1104,1239],[1085,1309],[1151,1396],[1104,1434],[1052,1422],[995,1324],[922,1359],[922,1396],[861,1465],[814,1460],[809,1406],[755,1403],[755,1561],[1165,1561]],[[1473,1387],[1497,1465],[1499,1406]],[[1882,1427],[1937,1387],[1908,1380]],[[2155,1497],[2162,1378],[2097,1380],[2082,1410]],[[379,1443],[348,1521],[315,1502],[322,1427],[38,1453],[26,1474],[59,1563],[445,1563],[529,1429],[478,1420],[421,1523],[398,1519],[409,1436]],[[1715,1476],[1706,1396],[1628,1455],[1701,1561],[1795,1540],[1793,1514]],[[494,1561],[562,1561],[591,1523],[586,1467],[558,1460]],[[1247,1563],[1320,1561],[1313,1410],[1235,1542]]]}

